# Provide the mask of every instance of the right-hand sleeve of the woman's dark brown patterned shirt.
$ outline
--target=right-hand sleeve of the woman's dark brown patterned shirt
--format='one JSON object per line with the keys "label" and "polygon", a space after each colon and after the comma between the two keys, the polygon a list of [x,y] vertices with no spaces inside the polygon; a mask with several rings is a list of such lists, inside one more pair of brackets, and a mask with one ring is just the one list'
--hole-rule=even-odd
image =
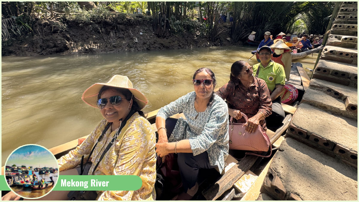
{"label": "right-hand sleeve of the woman's dark brown patterned shirt", "polygon": [[265,117],[272,114],[272,99],[270,98],[269,89],[267,87],[266,82],[263,79],[258,79],[259,82],[259,110],[258,112],[262,112]]}

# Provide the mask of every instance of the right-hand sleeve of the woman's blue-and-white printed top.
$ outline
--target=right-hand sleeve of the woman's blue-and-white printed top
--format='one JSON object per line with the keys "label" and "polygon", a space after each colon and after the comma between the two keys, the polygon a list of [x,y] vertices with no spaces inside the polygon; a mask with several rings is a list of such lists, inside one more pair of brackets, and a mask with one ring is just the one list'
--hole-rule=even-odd
{"label": "right-hand sleeve of the woman's blue-and-white printed top", "polygon": [[228,107],[219,105],[213,108],[210,119],[205,124],[202,133],[189,139],[193,155],[207,151],[213,143],[218,141],[219,134],[226,132],[228,132]]}

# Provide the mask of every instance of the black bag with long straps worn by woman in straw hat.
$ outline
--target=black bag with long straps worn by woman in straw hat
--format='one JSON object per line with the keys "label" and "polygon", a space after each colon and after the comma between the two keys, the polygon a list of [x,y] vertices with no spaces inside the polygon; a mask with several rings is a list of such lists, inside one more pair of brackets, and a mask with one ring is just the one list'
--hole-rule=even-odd
{"label": "black bag with long straps worn by woman in straw hat", "polygon": [[[117,130],[117,132],[115,133],[115,135],[113,137],[115,137],[116,135],[118,135],[118,133],[121,132],[122,128],[126,125],[127,120],[130,119],[130,117],[135,113],[135,111],[133,111],[131,109],[130,113],[126,116],[126,119],[124,121],[122,121],[120,128]],[[98,138],[96,144],[92,147],[92,150],[90,152],[89,157],[87,158],[87,161],[85,164],[92,164],[91,162],[88,162],[90,159],[90,156],[92,155],[92,152],[95,150],[95,147],[97,145],[97,143],[101,140],[101,138],[103,137],[103,135],[106,133],[106,131],[108,130],[108,128],[111,126],[111,123],[108,123],[106,125],[106,127],[103,129],[101,136]],[[113,141],[114,143],[115,141]],[[92,174],[95,172],[95,170],[97,169],[98,164],[101,162],[101,160],[103,159],[103,157],[105,156],[106,152],[110,149],[110,147],[112,146],[113,143],[109,143],[106,147],[106,149],[103,151],[99,161],[97,162],[96,166],[94,167]],[[81,173],[80,175],[83,175],[84,173],[84,169],[85,166],[83,166],[83,162],[84,162],[84,156],[81,157]],[[87,173],[88,175],[88,173]],[[69,198],[69,201],[94,201],[97,198],[97,192],[96,191],[70,191],[67,194],[67,197]]]}

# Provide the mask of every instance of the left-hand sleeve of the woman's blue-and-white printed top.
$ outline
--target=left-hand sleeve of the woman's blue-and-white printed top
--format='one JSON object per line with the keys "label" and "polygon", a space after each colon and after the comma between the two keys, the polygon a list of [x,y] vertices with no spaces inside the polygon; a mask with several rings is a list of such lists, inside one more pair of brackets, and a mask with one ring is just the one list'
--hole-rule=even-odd
{"label": "left-hand sleeve of the woman's blue-and-white printed top", "polygon": [[190,92],[187,95],[178,98],[176,101],[173,101],[170,104],[161,107],[161,109],[158,110],[157,116],[167,119],[174,114],[183,112],[183,109],[186,107],[191,93],[193,92]]}

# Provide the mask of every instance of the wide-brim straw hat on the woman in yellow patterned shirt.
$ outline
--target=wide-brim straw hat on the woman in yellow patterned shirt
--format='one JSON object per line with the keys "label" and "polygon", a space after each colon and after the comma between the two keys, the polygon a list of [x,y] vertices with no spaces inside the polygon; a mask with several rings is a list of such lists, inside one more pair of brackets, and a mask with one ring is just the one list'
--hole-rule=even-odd
{"label": "wide-brim straw hat on the woman in yellow patterned shirt", "polygon": [[140,106],[141,109],[148,103],[147,98],[136,88],[133,87],[132,82],[126,76],[114,75],[107,83],[95,83],[85,90],[81,99],[92,107],[97,107],[97,96],[103,86],[111,86],[116,88],[125,88],[134,96],[134,101]]}

